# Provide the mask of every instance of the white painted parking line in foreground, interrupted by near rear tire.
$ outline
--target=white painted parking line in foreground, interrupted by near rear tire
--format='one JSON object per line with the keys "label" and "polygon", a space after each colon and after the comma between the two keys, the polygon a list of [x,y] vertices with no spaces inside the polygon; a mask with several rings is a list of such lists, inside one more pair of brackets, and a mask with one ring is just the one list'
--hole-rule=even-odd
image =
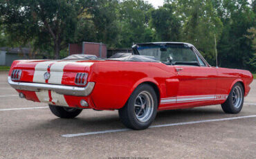
{"label": "white painted parking line in foreground, interrupted by near rear tire", "polygon": [[[199,121],[193,121],[193,122],[178,122],[178,123],[171,123],[171,124],[159,124],[159,125],[153,125],[149,128],[158,128],[158,127],[172,127],[172,126],[179,126],[179,125],[185,125],[185,124],[198,124],[203,122],[219,122],[219,121],[226,121],[226,120],[237,120],[237,119],[244,119],[244,118],[255,118],[256,115],[248,115],[248,116],[239,116],[239,117],[232,117],[232,118],[221,118],[221,119],[213,119],[213,120],[199,120]],[[100,133],[116,133],[116,132],[122,132],[122,131],[130,131],[131,129],[115,129],[115,130],[104,130],[104,131],[92,131],[88,133],[71,133],[71,134],[65,134],[62,135],[64,138],[72,138],[82,135],[95,135]]]}

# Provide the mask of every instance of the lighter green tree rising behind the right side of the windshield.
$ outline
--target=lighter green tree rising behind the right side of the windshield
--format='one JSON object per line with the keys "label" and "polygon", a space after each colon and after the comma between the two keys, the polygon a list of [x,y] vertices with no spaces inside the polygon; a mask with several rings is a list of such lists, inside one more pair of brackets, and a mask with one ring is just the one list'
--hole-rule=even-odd
{"label": "lighter green tree rising behind the right side of the windshield", "polygon": [[222,22],[210,0],[176,1],[182,18],[182,41],[194,44],[205,59],[214,65],[214,37],[219,39]]}

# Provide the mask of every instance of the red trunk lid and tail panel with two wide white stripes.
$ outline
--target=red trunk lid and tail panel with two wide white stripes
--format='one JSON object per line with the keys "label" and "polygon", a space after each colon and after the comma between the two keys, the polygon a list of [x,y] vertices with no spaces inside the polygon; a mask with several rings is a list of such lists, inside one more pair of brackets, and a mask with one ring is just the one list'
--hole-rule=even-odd
{"label": "red trunk lid and tail panel with two wide white stripes", "polygon": [[[13,69],[22,70],[21,82],[76,85],[77,73],[89,73],[93,62],[84,59],[21,60]],[[45,78],[49,73],[50,77]]]}

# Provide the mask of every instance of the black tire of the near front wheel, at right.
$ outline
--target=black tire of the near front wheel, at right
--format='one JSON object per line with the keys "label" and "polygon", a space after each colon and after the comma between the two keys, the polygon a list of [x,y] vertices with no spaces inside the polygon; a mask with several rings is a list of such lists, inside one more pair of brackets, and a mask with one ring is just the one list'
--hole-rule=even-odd
{"label": "black tire of the near front wheel, at right", "polygon": [[[240,93],[241,97],[240,97],[239,103],[236,104],[234,103],[235,100],[233,100],[235,99],[233,93],[235,93],[237,90],[241,91]],[[243,104],[244,104],[244,87],[241,85],[241,83],[236,83],[232,87],[226,102],[221,104],[221,108],[225,113],[239,113],[243,108]]]}

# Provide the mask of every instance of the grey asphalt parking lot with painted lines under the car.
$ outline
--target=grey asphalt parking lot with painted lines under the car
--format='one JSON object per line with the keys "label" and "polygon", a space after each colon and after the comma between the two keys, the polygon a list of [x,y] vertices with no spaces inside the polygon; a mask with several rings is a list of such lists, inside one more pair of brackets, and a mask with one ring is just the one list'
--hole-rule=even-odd
{"label": "grey asphalt parking lot with painted lines under the car", "polygon": [[0,158],[255,158],[256,80],[250,86],[239,114],[220,105],[159,111],[153,127],[133,131],[118,111],[57,118],[46,104],[20,99],[1,71]]}

